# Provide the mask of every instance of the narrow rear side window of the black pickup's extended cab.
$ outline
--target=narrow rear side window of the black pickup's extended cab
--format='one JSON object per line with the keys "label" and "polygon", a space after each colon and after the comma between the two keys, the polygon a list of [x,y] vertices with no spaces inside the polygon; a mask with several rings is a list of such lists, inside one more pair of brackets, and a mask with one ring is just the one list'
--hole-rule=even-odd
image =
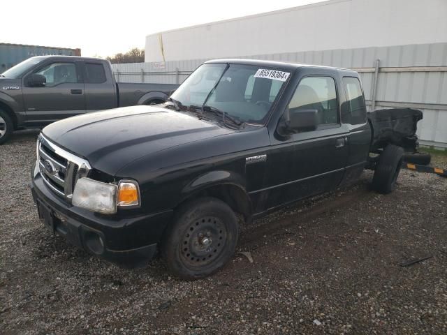
{"label": "narrow rear side window of the black pickup's extended cab", "polygon": [[356,77],[343,77],[346,103],[343,106],[343,122],[345,124],[364,124],[366,122],[365,99],[362,87]]}

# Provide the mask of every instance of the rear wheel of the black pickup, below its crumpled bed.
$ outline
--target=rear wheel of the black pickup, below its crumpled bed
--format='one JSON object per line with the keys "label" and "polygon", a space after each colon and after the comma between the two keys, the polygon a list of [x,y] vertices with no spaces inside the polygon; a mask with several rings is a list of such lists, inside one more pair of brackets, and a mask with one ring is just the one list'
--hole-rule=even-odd
{"label": "rear wheel of the black pickup, below its crumpled bed", "polygon": [[376,165],[372,187],[379,193],[388,194],[395,190],[397,176],[399,176],[404,149],[389,144],[383,149]]}

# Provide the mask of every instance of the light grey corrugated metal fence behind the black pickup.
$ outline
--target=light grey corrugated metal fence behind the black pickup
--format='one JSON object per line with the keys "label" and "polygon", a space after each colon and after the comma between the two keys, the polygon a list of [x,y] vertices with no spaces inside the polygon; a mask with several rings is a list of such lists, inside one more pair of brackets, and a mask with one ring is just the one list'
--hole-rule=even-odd
{"label": "light grey corrugated metal fence behind the black pickup", "polygon": [[[369,109],[374,91],[374,66],[379,59],[375,109],[415,107],[423,110],[424,119],[418,127],[421,143],[447,147],[447,43],[288,52],[244,58],[356,68]],[[183,82],[203,61],[206,59],[164,64],[113,64],[112,68],[121,82],[175,84]]]}

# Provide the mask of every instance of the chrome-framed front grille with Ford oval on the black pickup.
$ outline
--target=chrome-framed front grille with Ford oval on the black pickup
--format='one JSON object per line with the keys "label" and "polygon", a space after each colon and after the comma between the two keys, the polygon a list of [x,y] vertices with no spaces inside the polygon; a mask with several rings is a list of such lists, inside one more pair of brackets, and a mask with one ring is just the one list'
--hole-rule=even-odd
{"label": "chrome-framed front grille with Ford oval on the black pickup", "polygon": [[76,181],[87,177],[89,162],[47,140],[42,134],[37,140],[37,162],[45,184],[57,195],[71,201]]}

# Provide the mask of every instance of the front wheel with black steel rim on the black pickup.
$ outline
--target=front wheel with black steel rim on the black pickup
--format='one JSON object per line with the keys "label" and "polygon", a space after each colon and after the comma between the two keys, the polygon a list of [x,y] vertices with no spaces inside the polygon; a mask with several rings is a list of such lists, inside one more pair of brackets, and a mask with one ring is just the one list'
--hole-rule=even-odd
{"label": "front wheel with black steel rim on the black pickup", "polygon": [[238,234],[235,213],[225,202],[198,198],[175,213],[161,245],[161,257],[180,278],[204,278],[230,260]]}

